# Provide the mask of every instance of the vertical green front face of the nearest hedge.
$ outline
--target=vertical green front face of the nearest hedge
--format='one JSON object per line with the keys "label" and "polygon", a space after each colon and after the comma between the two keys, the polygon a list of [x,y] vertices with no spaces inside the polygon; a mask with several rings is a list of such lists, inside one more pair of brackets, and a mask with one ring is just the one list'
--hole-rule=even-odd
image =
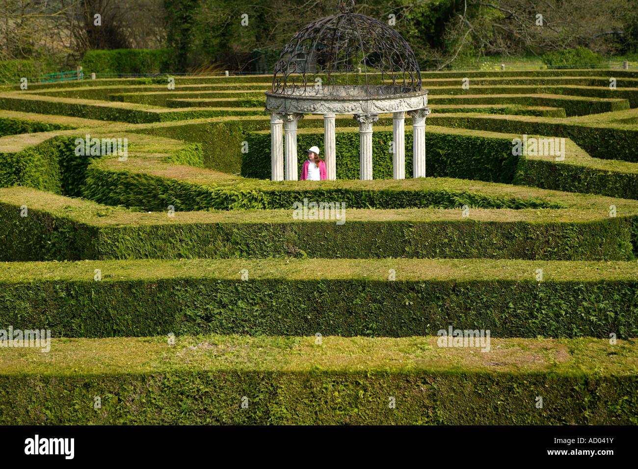
{"label": "vertical green front face of the nearest hedge", "polygon": [[571,373],[20,373],[0,376],[0,424],[635,425],[637,391],[635,376]]}

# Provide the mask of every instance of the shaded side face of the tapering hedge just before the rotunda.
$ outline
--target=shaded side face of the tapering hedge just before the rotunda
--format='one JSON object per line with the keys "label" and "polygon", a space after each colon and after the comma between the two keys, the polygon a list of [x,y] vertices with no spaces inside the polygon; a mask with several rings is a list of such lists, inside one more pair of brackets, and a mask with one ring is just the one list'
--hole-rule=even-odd
{"label": "shaded side face of the tapering hedge just before the rotunda", "polygon": [[[255,180],[253,180],[255,181]],[[360,188],[287,188],[270,181],[260,186],[244,181],[241,185],[194,184],[140,172],[112,170],[100,166],[100,161],[86,169],[81,189],[82,197],[105,205],[124,205],[143,210],[163,211],[167,205],[175,210],[207,209],[290,209],[295,202],[308,198],[316,201],[343,202],[351,209],[450,209],[468,205],[481,208],[563,208],[542,199],[494,197],[463,190],[380,190],[374,186]],[[258,181],[255,181],[258,182]]]}

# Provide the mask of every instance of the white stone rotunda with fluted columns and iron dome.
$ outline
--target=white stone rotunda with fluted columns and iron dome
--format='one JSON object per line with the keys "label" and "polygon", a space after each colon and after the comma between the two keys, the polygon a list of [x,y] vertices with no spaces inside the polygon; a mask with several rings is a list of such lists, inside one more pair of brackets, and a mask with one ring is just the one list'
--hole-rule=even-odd
{"label": "white stone rotunda with fluted columns and iron dome", "polygon": [[[392,175],[405,179],[404,118],[412,117],[413,177],[426,175],[427,90],[410,45],[387,24],[353,13],[352,0],[340,0],[341,13],[303,27],[283,48],[266,92],[271,114],[271,179],[297,181],[297,123],[304,114],[322,114],[324,161],[336,179],[336,114],[359,123],[361,180],[372,179],[372,126],[392,112]],[[286,155],[283,154],[283,133]]]}

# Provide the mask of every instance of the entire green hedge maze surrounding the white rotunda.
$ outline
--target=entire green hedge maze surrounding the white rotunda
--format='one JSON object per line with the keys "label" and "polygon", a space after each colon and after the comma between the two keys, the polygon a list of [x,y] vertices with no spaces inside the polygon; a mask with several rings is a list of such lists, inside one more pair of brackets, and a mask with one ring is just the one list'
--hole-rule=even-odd
{"label": "entire green hedge maze surrounding the white rotunda", "polygon": [[638,424],[638,72],[422,78],[403,181],[270,181],[266,75],[3,87],[0,422]]}

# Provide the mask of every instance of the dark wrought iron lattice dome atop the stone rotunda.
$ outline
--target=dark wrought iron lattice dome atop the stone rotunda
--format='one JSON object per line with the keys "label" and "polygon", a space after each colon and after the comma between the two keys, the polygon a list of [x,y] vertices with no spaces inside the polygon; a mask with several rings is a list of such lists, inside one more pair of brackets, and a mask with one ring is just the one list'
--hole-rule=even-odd
{"label": "dark wrought iron lattice dome atop the stone rotunda", "polygon": [[339,0],[341,13],[293,36],[275,64],[267,95],[347,99],[421,91],[419,64],[403,36],[380,20],[353,13],[353,7],[353,0]]}

